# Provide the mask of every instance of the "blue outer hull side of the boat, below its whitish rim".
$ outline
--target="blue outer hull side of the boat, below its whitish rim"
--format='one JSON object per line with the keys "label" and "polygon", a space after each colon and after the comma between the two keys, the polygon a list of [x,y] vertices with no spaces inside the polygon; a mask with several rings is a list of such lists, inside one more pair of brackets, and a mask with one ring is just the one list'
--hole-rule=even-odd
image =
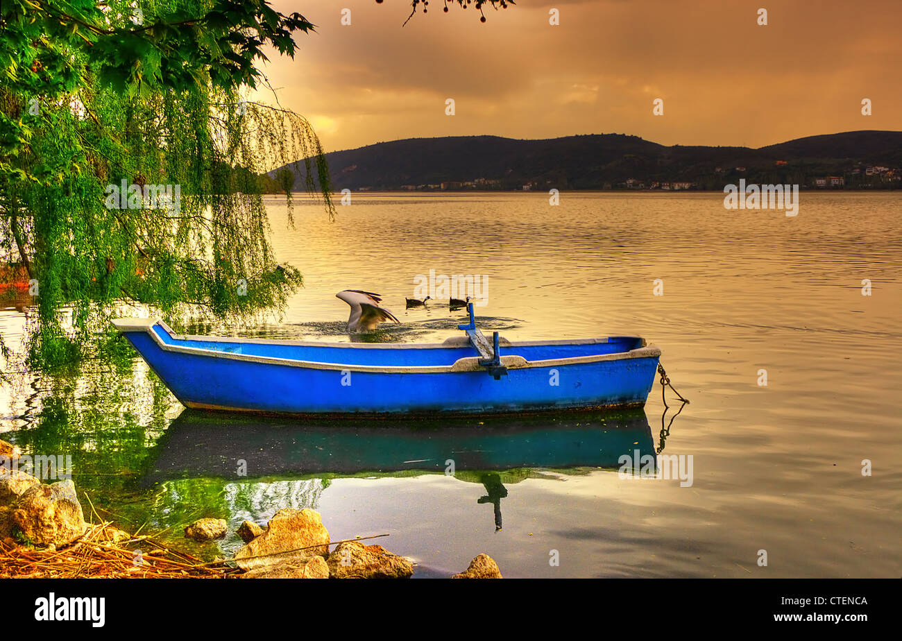
{"label": "blue outer hull side of the boat, below its whitish rim", "polygon": [[[290,415],[491,415],[641,407],[660,355],[657,348],[642,347],[598,359],[528,362],[516,355],[518,343],[508,343],[505,349],[513,355],[506,358],[512,366],[495,380],[476,358],[448,367],[341,364],[342,355],[337,362],[293,362],[237,353],[243,352],[240,348],[186,347],[174,334],[167,340],[160,325],[155,331],[152,326],[120,329],[183,405]],[[360,360],[355,353],[344,355]]]}

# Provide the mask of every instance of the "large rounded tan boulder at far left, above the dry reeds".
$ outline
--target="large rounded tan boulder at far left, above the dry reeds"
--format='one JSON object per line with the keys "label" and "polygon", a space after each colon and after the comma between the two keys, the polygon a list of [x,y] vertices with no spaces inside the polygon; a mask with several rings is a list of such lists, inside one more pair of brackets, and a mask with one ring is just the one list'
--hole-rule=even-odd
{"label": "large rounded tan boulder at far left, above the dry reeds", "polygon": [[13,512],[13,524],[34,545],[57,547],[71,543],[87,529],[72,481],[25,490]]}

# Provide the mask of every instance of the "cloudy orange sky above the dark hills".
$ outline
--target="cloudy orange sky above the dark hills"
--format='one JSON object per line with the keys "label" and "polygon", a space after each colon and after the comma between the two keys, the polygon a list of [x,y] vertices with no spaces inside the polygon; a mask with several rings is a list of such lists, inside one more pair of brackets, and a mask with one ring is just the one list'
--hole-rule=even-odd
{"label": "cloudy orange sky above the dark hills", "polygon": [[[521,0],[487,9],[486,23],[472,6],[445,14],[431,0],[403,28],[407,0],[272,4],[318,25],[296,37],[295,60],[273,54],[265,72],[327,151],[422,136],[575,133],[759,147],[902,129],[902,0]],[[548,24],[552,7],[559,26]],[[759,7],[767,26],[757,24]],[[870,116],[861,114],[866,97]]]}

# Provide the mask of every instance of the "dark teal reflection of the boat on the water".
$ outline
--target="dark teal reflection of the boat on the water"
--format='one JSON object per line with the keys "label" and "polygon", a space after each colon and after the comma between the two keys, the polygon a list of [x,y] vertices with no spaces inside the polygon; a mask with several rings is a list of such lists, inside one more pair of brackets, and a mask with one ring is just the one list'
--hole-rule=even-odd
{"label": "dark teal reflection of the boat on the water", "polygon": [[[531,417],[440,417],[349,422],[216,414],[186,409],[155,447],[146,484],[198,476],[262,477],[453,475],[483,485],[494,508],[530,475],[619,468],[621,455],[656,460],[642,409]],[[535,471],[535,474],[531,472]]]}

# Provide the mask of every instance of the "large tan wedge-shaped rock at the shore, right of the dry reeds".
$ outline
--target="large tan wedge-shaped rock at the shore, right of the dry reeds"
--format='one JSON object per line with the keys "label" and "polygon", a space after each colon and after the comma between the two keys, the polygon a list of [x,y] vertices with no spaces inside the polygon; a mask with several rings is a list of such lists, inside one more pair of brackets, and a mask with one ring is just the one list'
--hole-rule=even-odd
{"label": "large tan wedge-shaped rock at the shore, right of the dry reeds", "polygon": [[[307,548],[298,550],[298,548]],[[291,554],[247,558],[296,550]],[[270,519],[266,531],[235,553],[235,563],[245,572],[284,563],[289,558],[329,554],[329,533],[322,518],[312,509],[280,509]]]}

